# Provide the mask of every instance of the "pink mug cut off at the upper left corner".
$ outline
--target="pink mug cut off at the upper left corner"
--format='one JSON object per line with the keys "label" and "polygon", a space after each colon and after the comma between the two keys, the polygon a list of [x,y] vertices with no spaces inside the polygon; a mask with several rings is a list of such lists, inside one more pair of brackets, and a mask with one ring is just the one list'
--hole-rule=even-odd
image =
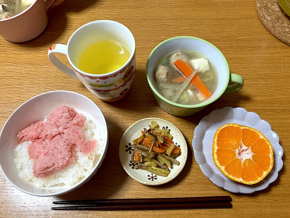
{"label": "pink mug cut off at the upper left corner", "polygon": [[26,10],[0,20],[0,35],[11,42],[24,42],[40,35],[47,26],[47,9],[55,0],[35,0]]}

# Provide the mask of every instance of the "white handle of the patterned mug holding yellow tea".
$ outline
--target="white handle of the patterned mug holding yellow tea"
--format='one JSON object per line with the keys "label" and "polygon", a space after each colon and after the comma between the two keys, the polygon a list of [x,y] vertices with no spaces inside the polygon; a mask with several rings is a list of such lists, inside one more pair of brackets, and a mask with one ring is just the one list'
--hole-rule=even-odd
{"label": "white handle of the patterned mug holding yellow tea", "polygon": [[68,74],[72,78],[79,80],[79,78],[76,76],[75,72],[71,68],[69,68],[68,66],[63,64],[63,62],[61,62],[58,58],[56,58],[54,53],[60,53],[60,54],[66,55],[67,45],[53,44],[52,46],[50,46],[50,48],[48,49],[48,54],[47,54],[48,59],[50,60],[51,63],[53,63],[54,66],[59,68],[61,71]]}

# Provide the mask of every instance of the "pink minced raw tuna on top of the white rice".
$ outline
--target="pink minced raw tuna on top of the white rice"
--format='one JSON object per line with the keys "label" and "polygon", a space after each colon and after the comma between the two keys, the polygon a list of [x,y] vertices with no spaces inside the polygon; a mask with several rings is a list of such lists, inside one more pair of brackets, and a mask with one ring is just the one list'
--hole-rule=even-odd
{"label": "pink minced raw tuna on top of the white rice", "polygon": [[21,141],[32,141],[28,146],[33,159],[33,174],[43,178],[63,170],[75,161],[75,151],[89,155],[96,140],[83,138],[86,117],[67,106],[56,107],[47,120],[37,121],[17,134]]}

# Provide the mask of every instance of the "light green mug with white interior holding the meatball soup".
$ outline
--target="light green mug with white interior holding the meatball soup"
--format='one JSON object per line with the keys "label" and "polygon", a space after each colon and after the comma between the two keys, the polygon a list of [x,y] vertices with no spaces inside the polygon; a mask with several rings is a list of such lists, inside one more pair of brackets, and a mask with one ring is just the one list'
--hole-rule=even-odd
{"label": "light green mug with white interior holding the meatball soup", "polygon": [[[158,61],[170,51],[178,49],[191,49],[198,51],[199,53],[204,54],[217,68],[218,87],[213,95],[201,104],[177,104],[167,100],[156,90],[154,72]],[[217,47],[208,41],[191,36],[170,38],[157,45],[148,57],[146,64],[146,76],[157,104],[167,113],[180,117],[190,116],[197,113],[212,102],[216,101],[222,94],[224,94],[224,92],[227,93],[238,91],[244,84],[243,78],[240,75],[230,73],[227,60]],[[233,82],[234,84],[229,85],[229,82]]]}

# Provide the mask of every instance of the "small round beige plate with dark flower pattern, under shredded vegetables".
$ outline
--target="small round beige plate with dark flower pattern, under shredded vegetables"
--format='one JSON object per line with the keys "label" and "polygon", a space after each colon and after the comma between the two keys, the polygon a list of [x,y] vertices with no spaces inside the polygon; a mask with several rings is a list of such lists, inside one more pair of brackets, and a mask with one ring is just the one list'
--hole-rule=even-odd
{"label": "small round beige plate with dark flower pattern, under shredded vegetables", "polygon": [[[173,136],[172,140],[176,145],[179,145],[181,149],[181,154],[176,158],[180,164],[179,166],[173,164],[170,169],[171,172],[167,177],[155,175],[147,170],[134,169],[136,163],[131,160],[133,150],[128,145],[129,143],[132,144],[133,140],[141,135],[140,130],[149,128],[150,121],[155,121],[160,128],[168,128],[170,134]],[[187,144],[180,130],[172,123],[160,118],[150,117],[135,122],[124,132],[119,146],[119,157],[124,170],[134,180],[146,185],[161,185],[173,180],[183,169],[187,159]]]}

